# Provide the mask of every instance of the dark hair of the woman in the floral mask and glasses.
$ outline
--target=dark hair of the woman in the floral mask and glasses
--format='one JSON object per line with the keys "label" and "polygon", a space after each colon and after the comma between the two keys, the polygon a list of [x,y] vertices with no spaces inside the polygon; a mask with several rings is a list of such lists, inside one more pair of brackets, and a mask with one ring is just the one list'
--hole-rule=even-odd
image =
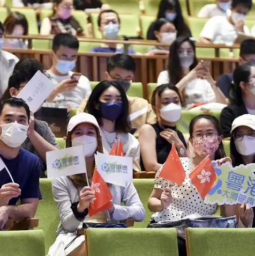
{"label": "dark hair of the woman in the floral mask and glasses", "polygon": [[[197,115],[195,116],[191,121],[190,121],[190,137],[193,136],[193,132],[194,132],[194,125],[196,124],[196,122],[200,119],[207,119],[209,121],[211,121],[215,127],[215,129],[217,130],[217,134],[219,136],[222,136],[222,131],[221,131],[221,127],[220,127],[220,122],[219,120],[217,120],[215,118],[215,116],[213,115],[206,115],[206,114],[202,114],[202,115]],[[226,157],[226,153],[224,151],[224,147],[223,147],[223,142],[221,141],[221,143],[219,144],[219,148],[217,148],[216,152],[215,152],[215,159],[221,159],[223,157]]]}

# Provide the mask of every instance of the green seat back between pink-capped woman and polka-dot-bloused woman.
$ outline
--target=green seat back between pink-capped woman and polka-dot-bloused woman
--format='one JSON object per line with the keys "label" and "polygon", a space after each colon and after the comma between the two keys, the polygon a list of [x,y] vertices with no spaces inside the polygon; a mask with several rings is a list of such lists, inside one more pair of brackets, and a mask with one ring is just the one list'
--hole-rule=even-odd
{"label": "green seat back between pink-capped woman and polka-dot-bloused woman", "polygon": [[154,179],[133,179],[133,182],[134,187],[136,187],[139,198],[145,209],[145,220],[142,222],[135,222],[134,228],[146,228],[146,226],[149,224],[149,219],[153,214],[148,209],[148,199],[154,187]]}

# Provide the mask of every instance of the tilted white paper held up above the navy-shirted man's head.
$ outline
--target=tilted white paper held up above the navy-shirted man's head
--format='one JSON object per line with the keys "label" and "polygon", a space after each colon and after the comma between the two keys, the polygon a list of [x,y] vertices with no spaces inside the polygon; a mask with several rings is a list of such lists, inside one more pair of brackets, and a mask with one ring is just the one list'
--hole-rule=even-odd
{"label": "tilted white paper held up above the navy-shirted man's head", "polygon": [[17,95],[17,98],[24,99],[33,113],[38,111],[56,85],[40,70],[38,70],[26,86]]}

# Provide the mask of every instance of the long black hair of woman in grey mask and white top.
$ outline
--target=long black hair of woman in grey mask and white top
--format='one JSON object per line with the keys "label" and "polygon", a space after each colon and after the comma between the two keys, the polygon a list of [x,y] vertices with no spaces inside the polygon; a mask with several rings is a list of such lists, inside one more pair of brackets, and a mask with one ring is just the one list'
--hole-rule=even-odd
{"label": "long black hair of woman in grey mask and white top", "polygon": [[189,42],[194,52],[194,61],[193,64],[190,66],[190,70],[192,70],[198,64],[198,60],[196,57],[196,46],[193,40],[191,40],[187,36],[180,36],[174,42],[172,42],[169,48],[168,75],[169,80],[174,85],[179,83],[179,81],[181,81],[181,79],[183,78],[183,71],[178,56],[178,50],[184,42]]}

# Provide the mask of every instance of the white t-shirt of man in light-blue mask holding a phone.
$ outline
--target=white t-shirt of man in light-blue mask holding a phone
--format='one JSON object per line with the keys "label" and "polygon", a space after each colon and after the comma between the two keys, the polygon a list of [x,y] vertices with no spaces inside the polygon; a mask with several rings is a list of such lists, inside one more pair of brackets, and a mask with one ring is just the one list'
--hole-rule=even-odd
{"label": "white t-shirt of man in light-blue mask holding a phone", "polygon": [[[73,74],[73,72],[70,71],[66,76],[58,76],[53,74],[53,72],[50,70],[48,70],[47,73],[51,76],[51,81],[53,81],[53,83],[56,85],[65,79],[71,78]],[[79,107],[81,102],[85,98],[88,98],[91,92],[91,85],[88,78],[85,76],[80,76],[77,86],[72,91],[57,94],[53,102],[46,102],[43,104],[43,107]]]}

